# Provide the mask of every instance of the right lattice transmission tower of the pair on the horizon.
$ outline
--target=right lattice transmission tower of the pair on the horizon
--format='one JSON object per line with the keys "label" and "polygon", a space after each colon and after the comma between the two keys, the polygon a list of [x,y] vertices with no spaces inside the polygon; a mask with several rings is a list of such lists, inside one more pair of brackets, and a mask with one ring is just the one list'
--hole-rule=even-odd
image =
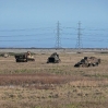
{"label": "right lattice transmission tower of the pair on the horizon", "polygon": [[83,47],[82,45],[82,37],[81,37],[81,22],[79,22],[79,28],[77,28],[77,41],[76,41],[76,48],[81,49]]}

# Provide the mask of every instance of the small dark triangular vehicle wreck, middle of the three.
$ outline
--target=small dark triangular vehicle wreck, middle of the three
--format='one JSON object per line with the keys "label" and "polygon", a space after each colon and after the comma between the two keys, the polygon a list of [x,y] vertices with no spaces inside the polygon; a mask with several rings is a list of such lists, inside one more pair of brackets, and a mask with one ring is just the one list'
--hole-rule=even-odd
{"label": "small dark triangular vehicle wreck, middle of the three", "polygon": [[53,52],[47,60],[47,63],[59,63],[61,60],[59,59],[59,55]]}

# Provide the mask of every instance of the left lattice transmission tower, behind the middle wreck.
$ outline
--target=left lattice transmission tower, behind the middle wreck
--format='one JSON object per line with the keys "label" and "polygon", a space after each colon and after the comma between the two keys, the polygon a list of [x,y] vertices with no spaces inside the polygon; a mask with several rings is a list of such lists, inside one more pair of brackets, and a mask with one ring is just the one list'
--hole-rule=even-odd
{"label": "left lattice transmission tower, behind the middle wreck", "polygon": [[57,23],[57,34],[56,34],[56,48],[61,48],[61,39],[60,39],[60,23]]}

